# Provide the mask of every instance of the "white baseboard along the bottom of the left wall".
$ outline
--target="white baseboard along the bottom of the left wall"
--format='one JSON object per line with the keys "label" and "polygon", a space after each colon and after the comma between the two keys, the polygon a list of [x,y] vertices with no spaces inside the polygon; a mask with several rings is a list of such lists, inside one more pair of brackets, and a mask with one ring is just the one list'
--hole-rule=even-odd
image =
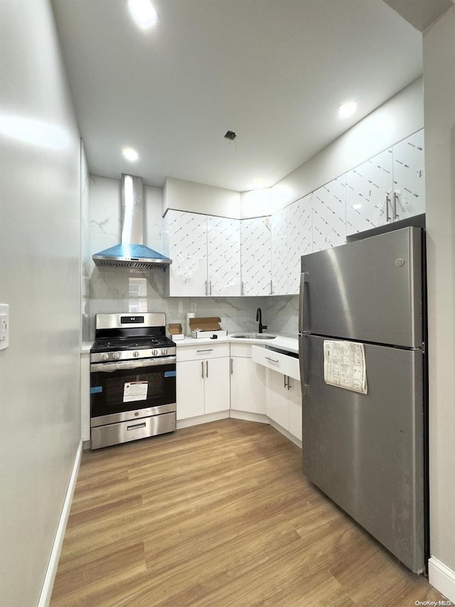
{"label": "white baseboard along the bottom of the left wall", "polygon": [[62,513],[60,514],[60,521],[58,522],[57,533],[55,534],[52,551],[50,551],[48,569],[45,573],[43,588],[41,588],[41,595],[40,600],[38,601],[38,607],[48,607],[50,603],[50,596],[52,595],[55,574],[57,573],[58,559],[60,559],[63,538],[65,537],[66,524],[68,523],[68,517],[70,516],[71,502],[73,502],[73,493],[76,486],[77,473],[79,472],[81,459],[82,438],[79,442],[79,446],[77,447],[77,453],[73,465],[73,472],[71,473],[70,482],[68,484],[68,490],[65,495],[65,501],[63,502]]}

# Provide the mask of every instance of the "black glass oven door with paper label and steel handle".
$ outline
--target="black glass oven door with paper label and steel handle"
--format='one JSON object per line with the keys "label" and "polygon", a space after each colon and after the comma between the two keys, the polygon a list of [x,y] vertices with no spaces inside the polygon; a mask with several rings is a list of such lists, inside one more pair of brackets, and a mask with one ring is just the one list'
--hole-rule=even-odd
{"label": "black glass oven door with paper label and steel handle", "polygon": [[[176,403],[176,357],[95,363],[90,366],[91,417],[127,411],[161,412]],[[166,410],[168,407],[166,407]],[[137,413],[135,413],[137,415]],[[113,421],[114,417],[109,418]]]}

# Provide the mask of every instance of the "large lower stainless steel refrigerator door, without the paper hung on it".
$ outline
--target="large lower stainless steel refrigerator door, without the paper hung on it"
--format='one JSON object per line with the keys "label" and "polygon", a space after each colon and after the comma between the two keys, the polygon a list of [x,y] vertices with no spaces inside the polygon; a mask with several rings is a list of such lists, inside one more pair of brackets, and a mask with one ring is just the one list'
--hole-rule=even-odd
{"label": "large lower stainless steel refrigerator door, without the paper hung on it", "polygon": [[[425,566],[421,351],[365,345],[368,394],[330,386],[322,337],[302,336],[304,473],[405,566]],[[302,382],[303,384],[303,382]]]}

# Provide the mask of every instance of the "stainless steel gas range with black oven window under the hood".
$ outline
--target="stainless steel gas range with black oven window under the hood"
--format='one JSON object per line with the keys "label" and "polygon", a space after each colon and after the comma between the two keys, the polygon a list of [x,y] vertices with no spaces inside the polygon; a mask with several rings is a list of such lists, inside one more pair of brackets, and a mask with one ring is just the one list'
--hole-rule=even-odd
{"label": "stainless steel gas range with black oven window under the hood", "polygon": [[176,344],[161,312],[96,315],[90,426],[92,449],[176,429]]}

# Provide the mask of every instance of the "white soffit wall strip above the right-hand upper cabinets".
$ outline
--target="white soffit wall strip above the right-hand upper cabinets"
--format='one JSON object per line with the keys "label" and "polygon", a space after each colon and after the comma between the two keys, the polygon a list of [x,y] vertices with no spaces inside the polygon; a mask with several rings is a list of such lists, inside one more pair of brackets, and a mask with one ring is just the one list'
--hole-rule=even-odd
{"label": "white soffit wall strip above the right-hand upper cabinets", "polygon": [[271,188],[242,192],[241,217],[274,213],[423,126],[422,78],[418,78]]}

